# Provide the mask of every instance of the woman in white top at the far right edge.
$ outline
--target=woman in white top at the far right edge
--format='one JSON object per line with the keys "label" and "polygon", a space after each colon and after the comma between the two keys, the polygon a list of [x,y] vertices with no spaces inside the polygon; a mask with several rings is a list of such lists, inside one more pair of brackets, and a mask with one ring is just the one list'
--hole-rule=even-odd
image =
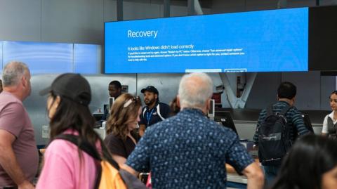
{"label": "woman in white top at the far right edge", "polygon": [[330,107],[332,112],[324,118],[322,135],[337,138],[337,91],[330,95]]}

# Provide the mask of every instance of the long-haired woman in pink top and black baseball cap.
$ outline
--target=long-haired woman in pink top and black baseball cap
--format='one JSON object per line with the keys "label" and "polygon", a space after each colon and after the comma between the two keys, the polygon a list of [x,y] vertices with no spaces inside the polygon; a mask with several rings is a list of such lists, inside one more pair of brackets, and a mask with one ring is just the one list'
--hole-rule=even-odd
{"label": "long-haired woman in pink top and black baseball cap", "polygon": [[60,134],[72,134],[79,136],[79,141],[87,141],[100,149],[102,140],[93,131],[95,120],[88,108],[90,85],[80,74],[62,74],[40,92],[41,95],[46,93],[49,93],[51,143],[44,154],[37,188],[93,188],[97,176],[95,159],[69,141],[54,140]]}

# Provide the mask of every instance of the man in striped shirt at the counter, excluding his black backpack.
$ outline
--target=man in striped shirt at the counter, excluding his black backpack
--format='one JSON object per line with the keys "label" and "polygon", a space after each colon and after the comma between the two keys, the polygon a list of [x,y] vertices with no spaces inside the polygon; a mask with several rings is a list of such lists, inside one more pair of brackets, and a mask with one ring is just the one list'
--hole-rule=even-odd
{"label": "man in striped shirt at the counter, excluding his black backpack", "polygon": [[[289,130],[291,133],[291,141],[295,141],[295,137],[297,135],[303,135],[305,133],[309,133],[310,131],[305,127],[304,120],[302,114],[297,110],[293,104],[295,103],[296,96],[296,86],[291,82],[282,82],[277,89],[277,98],[278,102],[272,105],[272,112],[279,113],[285,107],[290,107],[288,112],[286,112],[286,122],[287,126],[289,126]],[[260,112],[260,116],[258,117],[258,125],[256,126],[256,133],[254,135],[254,143],[258,145],[258,128],[260,124],[265,120],[267,116],[267,109],[263,109]],[[296,136],[294,136],[296,134]],[[272,180],[277,176],[277,171],[279,170],[279,166],[263,166],[265,171],[266,183],[272,183]]]}

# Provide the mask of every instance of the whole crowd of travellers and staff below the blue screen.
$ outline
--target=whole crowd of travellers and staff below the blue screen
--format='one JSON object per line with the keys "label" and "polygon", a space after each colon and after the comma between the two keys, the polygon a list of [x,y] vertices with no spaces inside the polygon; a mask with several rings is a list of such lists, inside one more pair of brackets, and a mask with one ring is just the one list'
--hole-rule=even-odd
{"label": "whole crowd of travellers and staff below the blue screen", "polygon": [[[93,130],[88,81],[80,74],[60,74],[40,91],[48,95],[51,140],[34,182],[39,156],[34,128],[22,104],[31,93],[30,77],[27,65],[17,61],[8,63],[2,73],[0,188],[95,188],[97,159],[81,150],[82,142],[97,154],[108,149],[116,167],[135,176],[151,172],[152,188],[226,188],[225,164],[246,176],[247,188],[337,188],[337,91],[331,93],[333,112],[324,118],[322,136],[315,136],[294,106],[296,86],[279,85],[277,103],[260,112],[254,142],[262,148],[258,130],[272,112],[284,113],[294,145],[282,161],[263,164],[261,169],[234,131],[206,117],[213,82],[204,73],[182,77],[171,107],[159,101],[154,86],[141,90],[143,107],[139,97],[121,92],[120,82],[111,82],[109,92],[115,101],[105,115],[104,141]],[[61,135],[76,136],[78,143],[62,140]]]}

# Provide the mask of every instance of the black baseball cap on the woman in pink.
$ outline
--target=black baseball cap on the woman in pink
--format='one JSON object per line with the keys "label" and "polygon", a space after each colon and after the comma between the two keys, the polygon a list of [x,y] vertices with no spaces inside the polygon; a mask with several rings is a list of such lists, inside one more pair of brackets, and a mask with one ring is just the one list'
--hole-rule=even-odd
{"label": "black baseball cap on the woman in pink", "polygon": [[80,74],[61,74],[56,77],[51,86],[40,91],[40,95],[44,96],[50,92],[73,100],[81,105],[88,105],[91,101],[90,85]]}

